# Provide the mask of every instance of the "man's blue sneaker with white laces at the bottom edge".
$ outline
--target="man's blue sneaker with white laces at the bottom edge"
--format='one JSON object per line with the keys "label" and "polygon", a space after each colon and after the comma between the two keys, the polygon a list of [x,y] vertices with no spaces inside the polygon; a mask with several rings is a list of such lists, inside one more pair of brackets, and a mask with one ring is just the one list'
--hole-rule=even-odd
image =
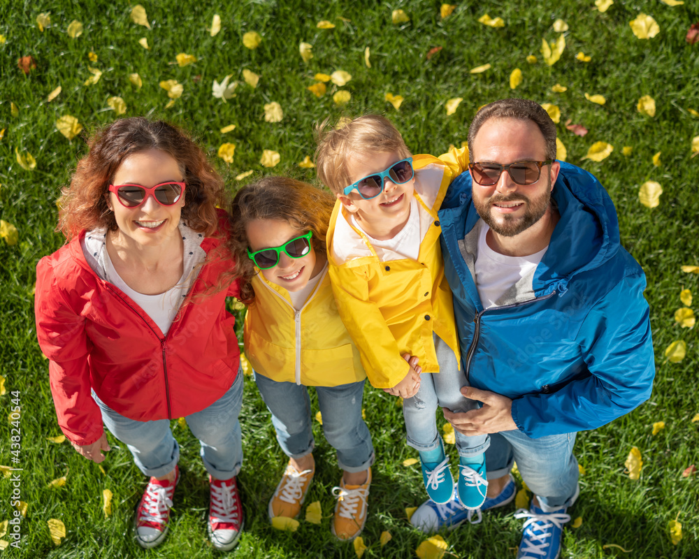
{"label": "man's blue sneaker with white laces at the bottom edge", "polygon": [[514,518],[526,518],[517,559],[558,559],[561,554],[563,524],[570,522],[566,507],[544,512],[532,504],[530,510],[519,509]]}

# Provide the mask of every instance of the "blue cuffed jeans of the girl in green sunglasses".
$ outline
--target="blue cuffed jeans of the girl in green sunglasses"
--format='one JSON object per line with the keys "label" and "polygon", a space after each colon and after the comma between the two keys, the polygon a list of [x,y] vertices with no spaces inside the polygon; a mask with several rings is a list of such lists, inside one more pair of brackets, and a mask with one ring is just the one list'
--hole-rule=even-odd
{"label": "blue cuffed jeans of the girl in green sunglasses", "polygon": [[[289,458],[301,458],[313,451],[312,418],[308,387],[294,382],[277,382],[261,373],[254,375],[262,400],[272,414],[279,446]],[[340,386],[316,386],[326,440],[338,453],[345,472],[363,472],[374,462],[369,429],[361,419],[364,381]]]}

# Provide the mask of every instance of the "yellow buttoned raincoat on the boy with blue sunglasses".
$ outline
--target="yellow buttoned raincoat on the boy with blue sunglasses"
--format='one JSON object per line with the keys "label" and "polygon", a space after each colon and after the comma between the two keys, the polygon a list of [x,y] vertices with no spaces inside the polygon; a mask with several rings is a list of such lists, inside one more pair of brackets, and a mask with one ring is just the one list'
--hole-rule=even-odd
{"label": "yellow buttoned raincoat on the boy with blue sunglasses", "polygon": [[[408,375],[410,365],[401,357],[404,353],[417,356],[424,372],[439,371],[433,332],[461,363],[437,210],[449,183],[467,166],[465,147],[439,158],[413,157],[422,239],[417,261],[386,249],[381,260],[363,231],[352,225],[340,201],[335,204],[327,237],[333,291],[369,382],[377,389],[393,388]],[[343,254],[351,254],[345,261],[336,257],[340,244]]]}

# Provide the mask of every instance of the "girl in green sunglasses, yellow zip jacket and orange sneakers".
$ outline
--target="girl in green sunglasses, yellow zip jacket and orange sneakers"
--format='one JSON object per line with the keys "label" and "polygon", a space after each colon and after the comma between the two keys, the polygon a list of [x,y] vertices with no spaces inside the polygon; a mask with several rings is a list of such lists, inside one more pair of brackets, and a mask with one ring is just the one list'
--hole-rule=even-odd
{"label": "girl in green sunglasses, yellow zip jacket and orange sneakers", "polygon": [[352,540],[366,522],[374,449],[361,416],[366,374],[338,315],[325,237],[333,198],[305,182],[266,177],[238,191],[231,206],[233,272],[240,276],[245,353],[289,456],[269,502],[270,519],[294,518],[315,462],[307,386],[315,386],[328,442],[344,470],[332,532]]}

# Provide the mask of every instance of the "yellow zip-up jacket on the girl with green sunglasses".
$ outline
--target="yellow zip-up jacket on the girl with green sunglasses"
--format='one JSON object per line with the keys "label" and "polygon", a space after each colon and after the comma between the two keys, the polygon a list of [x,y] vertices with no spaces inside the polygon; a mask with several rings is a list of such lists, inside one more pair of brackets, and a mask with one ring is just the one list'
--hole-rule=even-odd
{"label": "yellow zip-up jacket on the girl with green sunglasses", "polygon": [[245,355],[255,372],[277,382],[339,386],[366,378],[359,351],[335,305],[328,267],[301,310],[289,291],[258,274],[245,315]]}

